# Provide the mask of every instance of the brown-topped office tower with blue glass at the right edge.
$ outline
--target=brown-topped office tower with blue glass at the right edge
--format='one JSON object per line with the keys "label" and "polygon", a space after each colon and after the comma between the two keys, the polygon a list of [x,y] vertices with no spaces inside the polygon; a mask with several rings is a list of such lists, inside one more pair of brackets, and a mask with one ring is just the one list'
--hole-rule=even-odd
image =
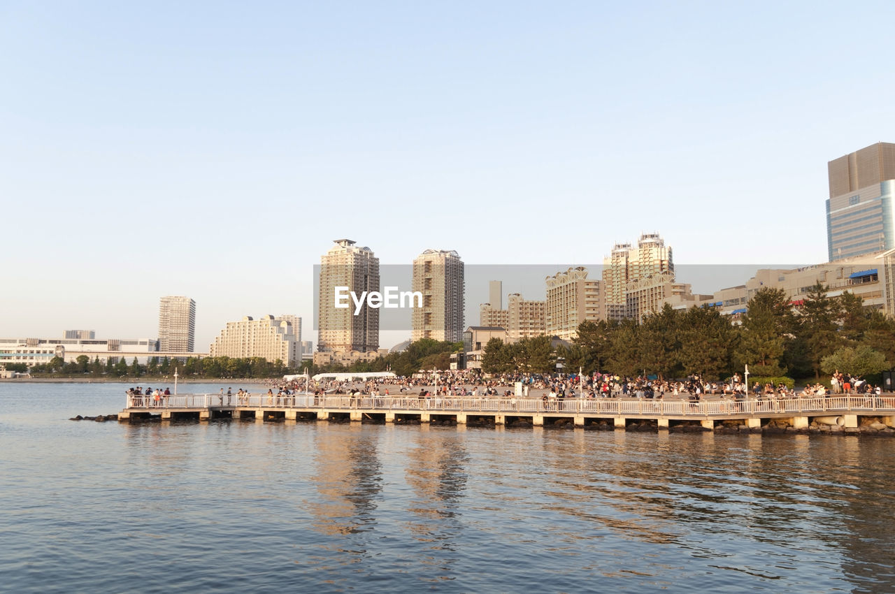
{"label": "brown-topped office tower with blue glass at the right edge", "polygon": [[895,248],[895,144],[877,142],[827,164],[830,261]]}

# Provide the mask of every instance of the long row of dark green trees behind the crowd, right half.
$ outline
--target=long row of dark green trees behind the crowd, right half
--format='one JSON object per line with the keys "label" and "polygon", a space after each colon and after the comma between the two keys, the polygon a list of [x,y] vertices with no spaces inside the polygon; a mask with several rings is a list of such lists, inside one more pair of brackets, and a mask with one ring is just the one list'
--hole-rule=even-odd
{"label": "long row of dark green trees behind the crowd, right half", "polygon": [[793,305],[782,289],[763,287],[749,301],[740,324],[711,307],[674,310],[668,304],[644,318],[584,322],[569,345],[550,348],[538,336],[515,344],[492,339],[485,348],[486,373],[547,373],[562,362],[567,371],[611,372],[709,380],[742,373],[754,378],[820,378],[835,369],[873,375],[895,366],[895,321],[869,310],[853,293],[828,297],[814,284]]}

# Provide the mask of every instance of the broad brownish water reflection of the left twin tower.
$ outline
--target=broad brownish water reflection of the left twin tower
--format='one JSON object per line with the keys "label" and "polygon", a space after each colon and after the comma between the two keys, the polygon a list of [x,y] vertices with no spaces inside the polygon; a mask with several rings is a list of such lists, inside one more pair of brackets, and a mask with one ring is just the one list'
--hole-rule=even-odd
{"label": "broad brownish water reflection of the left twin tower", "polygon": [[316,472],[311,479],[320,496],[306,501],[312,525],[325,534],[369,530],[376,497],[382,491],[375,429],[338,425],[320,431],[314,447]]}

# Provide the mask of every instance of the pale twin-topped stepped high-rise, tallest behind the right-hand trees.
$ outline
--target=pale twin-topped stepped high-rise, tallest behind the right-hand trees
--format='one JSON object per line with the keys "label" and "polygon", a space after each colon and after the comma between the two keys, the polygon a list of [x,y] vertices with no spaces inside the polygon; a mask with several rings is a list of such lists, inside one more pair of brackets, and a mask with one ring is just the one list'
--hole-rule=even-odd
{"label": "pale twin-topped stepped high-rise, tallest behind the right-hand trees", "polygon": [[607,319],[627,317],[627,284],[644,278],[671,273],[674,261],[671,248],[665,246],[659,233],[643,233],[637,247],[616,243],[609,258],[603,259],[603,312]]}

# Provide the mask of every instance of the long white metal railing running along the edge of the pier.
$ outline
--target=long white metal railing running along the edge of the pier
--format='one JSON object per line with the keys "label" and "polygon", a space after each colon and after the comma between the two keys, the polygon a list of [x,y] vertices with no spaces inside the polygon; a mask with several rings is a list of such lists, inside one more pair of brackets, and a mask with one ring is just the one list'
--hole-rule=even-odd
{"label": "long white metal railing running along the edge of the pier", "polygon": [[780,413],[879,412],[895,414],[895,395],[841,395],[818,398],[706,400],[652,400],[624,398],[482,398],[447,396],[347,395],[219,395],[186,394],[160,396],[128,395],[127,408],[132,410],[183,409],[302,409],[368,412],[445,412],[485,414],[539,414],[587,416],[693,416],[719,418],[725,416],[757,416]]}

